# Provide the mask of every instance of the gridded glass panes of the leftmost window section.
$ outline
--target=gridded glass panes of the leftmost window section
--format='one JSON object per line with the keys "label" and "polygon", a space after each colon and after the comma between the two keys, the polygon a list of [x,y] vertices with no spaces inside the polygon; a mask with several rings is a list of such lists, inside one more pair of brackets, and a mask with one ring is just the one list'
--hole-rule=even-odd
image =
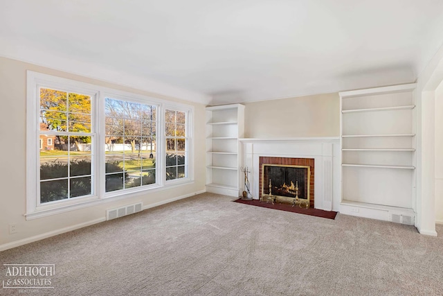
{"label": "gridded glass panes of the leftmost window section", "polygon": [[39,204],[93,194],[91,105],[91,96],[39,87],[39,136],[53,144],[38,152]]}

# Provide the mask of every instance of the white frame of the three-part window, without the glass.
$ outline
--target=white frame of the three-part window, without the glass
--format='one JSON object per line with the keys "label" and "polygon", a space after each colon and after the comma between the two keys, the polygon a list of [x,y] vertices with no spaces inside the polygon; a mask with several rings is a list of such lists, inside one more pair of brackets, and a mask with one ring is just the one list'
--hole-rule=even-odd
{"label": "white frame of the three-part window, without the glass", "polygon": [[[39,87],[50,89],[69,90],[79,94],[91,96],[95,101],[92,105],[91,124],[94,130],[93,151],[95,160],[91,163],[91,174],[95,175],[96,182],[91,184],[93,194],[68,200],[39,203]],[[137,186],[130,189],[105,192],[105,98],[132,101],[147,105],[156,105],[156,183]],[[194,182],[193,168],[193,139],[194,130],[194,107],[179,103],[143,96],[130,92],[124,92],[99,85],[91,85],[85,82],[69,80],[56,76],[50,76],[34,71],[27,71],[27,98],[26,108],[26,220],[59,214],[73,209],[92,207],[102,202],[132,198],[141,192],[156,192],[169,189],[173,186]],[[165,180],[165,110],[177,110],[186,112],[186,134],[188,136],[188,152],[186,166],[188,175],[176,180]],[[37,200],[38,199],[38,200]]]}

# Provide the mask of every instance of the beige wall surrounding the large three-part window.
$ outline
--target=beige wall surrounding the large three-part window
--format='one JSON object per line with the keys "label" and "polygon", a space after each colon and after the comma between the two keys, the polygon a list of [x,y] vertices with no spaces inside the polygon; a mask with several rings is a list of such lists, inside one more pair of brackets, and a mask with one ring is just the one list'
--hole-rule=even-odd
{"label": "beige wall surrounding the large three-part window", "polygon": [[[26,70],[193,105],[195,107],[195,182],[165,191],[141,193],[141,195],[134,198],[106,202],[105,204],[96,205],[87,209],[78,209],[64,214],[37,218],[35,220],[26,220],[24,217],[26,175]],[[85,72],[85,75],[87,75],[87,72]],[[205,148],[204,105],[179,101],[174,98],[150,94],[137,89],[122,87],[91,78],[84,78],[82,76],[55,71],[7,58],[0,58],[0,99],[0,250],[2,249],[2,245],[3,248],[5,248],[11,243],[19,244],[21,240],[23,240],[21,242],[26,243],[29,241],[29,238],[33,238],[34,236],[35,239],[37,239],[43,234],[56,234],[57,232],[63,231],[63,229],[69,229],[70,227],[75,227],[75,225],[82,225],[104,218],[106,209],[139,201],[143,201],[143,204],[147,206],[182,195],[190,195],[205,189],[205,164],[198,159],[199,155],[204,155]],[[17,224],[18,232],[16,234],[9,234],[10,223]]]}

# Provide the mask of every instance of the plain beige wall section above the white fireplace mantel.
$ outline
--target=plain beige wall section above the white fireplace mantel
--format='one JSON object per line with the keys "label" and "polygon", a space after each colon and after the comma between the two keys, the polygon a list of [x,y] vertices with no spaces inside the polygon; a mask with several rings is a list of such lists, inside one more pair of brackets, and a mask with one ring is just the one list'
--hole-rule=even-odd
{"label": "plain beige wall section above the white fireplace mantel", "polygon": [[337,93],[246,103],[245,137],[338,137]]}

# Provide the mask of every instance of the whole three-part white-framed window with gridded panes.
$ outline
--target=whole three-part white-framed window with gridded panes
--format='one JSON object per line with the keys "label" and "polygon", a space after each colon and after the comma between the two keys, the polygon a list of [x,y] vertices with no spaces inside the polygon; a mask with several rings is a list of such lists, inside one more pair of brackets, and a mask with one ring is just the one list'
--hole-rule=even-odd
{"label": "whole three-part white-framed window with gridded panes", "polygon": [[192,181],[192,107],[28,71],[27,108],[27,218]]}

